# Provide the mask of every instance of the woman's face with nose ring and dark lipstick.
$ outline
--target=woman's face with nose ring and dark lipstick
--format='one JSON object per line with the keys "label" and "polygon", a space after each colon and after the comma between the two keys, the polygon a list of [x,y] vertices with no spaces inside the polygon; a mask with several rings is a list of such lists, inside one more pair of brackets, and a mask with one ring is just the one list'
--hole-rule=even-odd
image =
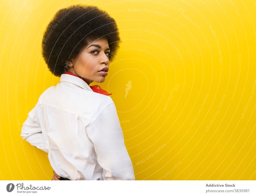
{"label": "woman's face with nose ring and dark lipstick", "polygon": [[100,70],[108,68],[108,55],[110,55],[110,49],[107,38],[91,41],[76,58],[68,61],[67,71],[82,77],[88,85],[93,81],[104,82],[108,69],[105,72]]}

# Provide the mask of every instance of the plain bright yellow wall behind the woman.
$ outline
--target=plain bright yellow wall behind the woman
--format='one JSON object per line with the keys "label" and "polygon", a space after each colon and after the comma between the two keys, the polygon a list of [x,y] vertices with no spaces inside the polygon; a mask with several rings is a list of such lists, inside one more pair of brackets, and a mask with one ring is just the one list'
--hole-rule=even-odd
{"label": "plain bright yellow wall behind the woman", "polygon": [[113,93],[136,180],[256,180],[256,5],[244,0],[1,2],[0,179],[52,179],[47,153],[20,130],[60,80],[40,54],[44,29],[77,3],[119,26],[98,85]]}

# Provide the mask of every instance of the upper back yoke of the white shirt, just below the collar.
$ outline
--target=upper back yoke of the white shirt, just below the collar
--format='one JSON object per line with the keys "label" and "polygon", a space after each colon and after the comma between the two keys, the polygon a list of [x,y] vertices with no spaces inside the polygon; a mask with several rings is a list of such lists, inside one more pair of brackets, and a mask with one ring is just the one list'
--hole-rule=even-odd
{"label": "upper back yoke of the white shirt, just below the collar", "polygon": [[97,92],[84,90],[76,86],[65,86],[57,84],[46,89],[38,100],[39,104],[50,106],[93,119],[106,106],[114,104],[111,97]]}

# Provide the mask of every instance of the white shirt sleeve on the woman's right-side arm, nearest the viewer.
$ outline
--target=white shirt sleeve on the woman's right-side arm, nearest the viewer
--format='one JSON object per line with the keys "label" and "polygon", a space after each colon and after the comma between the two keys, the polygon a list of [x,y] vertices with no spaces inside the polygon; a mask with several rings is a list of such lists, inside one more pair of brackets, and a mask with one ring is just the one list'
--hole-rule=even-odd
{"label": "white shirt sleeve on the woman's right-side arm, nearest the viewer", "polygon": [[100,112],[87,135],[94,144],[97,161],[103,168],[103,180],[135,180],[114,103]]}

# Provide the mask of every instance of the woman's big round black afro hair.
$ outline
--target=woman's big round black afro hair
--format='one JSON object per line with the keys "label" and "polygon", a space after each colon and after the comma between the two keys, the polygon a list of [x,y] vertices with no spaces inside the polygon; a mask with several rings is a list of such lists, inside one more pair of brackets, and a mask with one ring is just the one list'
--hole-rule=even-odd
{"label": "woman's big round black afro hair", "polygon": [[108,39],[111,61],[121,42],[116,21],[96,6],[71,5],[58,10],[46,27],[42,56],[49,70],[60,76],[66,61],[75,58],[88,42],[101,37]]}

